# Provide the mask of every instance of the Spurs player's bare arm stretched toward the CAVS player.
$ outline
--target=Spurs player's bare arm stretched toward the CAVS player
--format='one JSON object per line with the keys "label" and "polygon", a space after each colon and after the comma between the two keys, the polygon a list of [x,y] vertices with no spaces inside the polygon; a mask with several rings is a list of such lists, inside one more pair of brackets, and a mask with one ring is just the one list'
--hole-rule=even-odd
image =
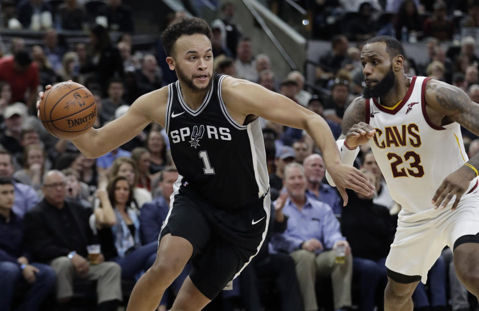
{"label": "Spurs player's bare arm stretched toward the CAVS player", "polygon": [[253,114],[305,130],[321,150],[326,168],[331,172],[345,203],[347,195],[344,188],[365,195],[374,191],[374,186],[363,173],[341,162],[331,130],[319,115],[258,84],[235,78],[227,78],[223,83],[223,98],[234,118],[242,117],[244,120],[244,116]]}

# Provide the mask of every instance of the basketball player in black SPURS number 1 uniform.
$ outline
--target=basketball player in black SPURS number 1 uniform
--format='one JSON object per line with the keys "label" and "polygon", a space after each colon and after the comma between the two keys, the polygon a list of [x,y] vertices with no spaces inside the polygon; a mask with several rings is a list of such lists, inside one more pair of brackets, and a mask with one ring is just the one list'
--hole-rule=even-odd
{"label": "basketball player in black SPURS number 1 uniform", "polygon": [[124,116],[73,140],[85,156],[96,158],[150,122],[164,126],[170,139],[180,177],[156,262],[136,284],[128,311],[155,310],[190,259],[193,269],[172,310],[201,310],[258,252],[269,222],[269,189],[257,116],[306,130],[344,202],[345,187],[365,195],[374,191],[361,172],[341,163],[331,131],[317,114],[258,84],[214,74],[210,38],[202,19],[171,24],[162,39],[178,81],[141,96]]}

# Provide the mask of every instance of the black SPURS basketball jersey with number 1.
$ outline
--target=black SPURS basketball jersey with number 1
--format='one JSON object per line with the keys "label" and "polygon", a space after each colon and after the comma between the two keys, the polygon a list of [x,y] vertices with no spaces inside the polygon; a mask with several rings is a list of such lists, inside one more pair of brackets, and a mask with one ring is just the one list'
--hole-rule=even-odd
{"label": "black SPURS basketball jersey with number 1", "polygon": [[183,100],[178,81],[168,86],[165,127],[182,184],[221,209],[237,209],[266,194],[268,174],[259,118],[238,124],[221,95],[226,75],[197,110]]}

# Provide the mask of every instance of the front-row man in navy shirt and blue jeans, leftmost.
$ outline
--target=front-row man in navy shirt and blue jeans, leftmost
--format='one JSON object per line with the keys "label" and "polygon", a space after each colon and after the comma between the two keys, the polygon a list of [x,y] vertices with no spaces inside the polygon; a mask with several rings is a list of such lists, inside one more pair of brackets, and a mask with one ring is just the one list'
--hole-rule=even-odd
{"label": "front-row man in navy shirt and blue jeans, leftmost", "polygon": [[13,182],[0,177],[0,306],[10,309],[13,293],[28,286],[21,306],[15,310],[36,311],[55,285],[53,270],[32,262],[23,239],[23,222],[11,209],[14,202]]}

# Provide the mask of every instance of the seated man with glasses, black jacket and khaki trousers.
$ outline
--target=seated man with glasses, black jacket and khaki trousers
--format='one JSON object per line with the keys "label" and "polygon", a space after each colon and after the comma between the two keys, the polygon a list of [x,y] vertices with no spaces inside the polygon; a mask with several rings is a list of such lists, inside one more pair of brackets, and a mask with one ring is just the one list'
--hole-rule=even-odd
{"label": "seated man with glasses, black jacket and khaki trousers", "polygon": [[88,225],[91,210],[66,201],[66,178],[49,171],[43,180],[44,199],[26,213],[25,237],[34,259],[50,262],[57,275],[56,299],[60,308],[73,295],[73,279],[97,280],[98,310],[116,310],[121,295],[121,268],[105,262],[89,263],[87,245],[96,244]]}

